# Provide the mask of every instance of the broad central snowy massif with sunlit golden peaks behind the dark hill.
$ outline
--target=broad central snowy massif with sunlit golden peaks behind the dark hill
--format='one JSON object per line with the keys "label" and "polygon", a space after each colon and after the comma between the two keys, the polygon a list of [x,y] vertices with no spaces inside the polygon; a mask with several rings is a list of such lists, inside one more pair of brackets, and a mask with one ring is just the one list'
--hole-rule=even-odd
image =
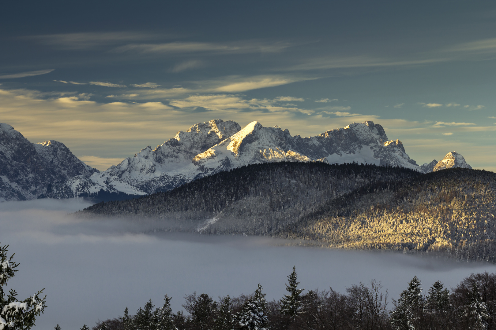
{"label": "broad central snowy massif with sunlit golden peaks behind the dark hill", "polygon": [[421,171],[401,141],[389,141],[371,121],[353,123],[311,138],[291,136],[280,127],[254,121],[241,129],[233,121],[211,120],[90,178],[79,176],[53,184],[47,197],[73,197],[105,191],[148,194],[243,165],[279,161],[373,163]]}

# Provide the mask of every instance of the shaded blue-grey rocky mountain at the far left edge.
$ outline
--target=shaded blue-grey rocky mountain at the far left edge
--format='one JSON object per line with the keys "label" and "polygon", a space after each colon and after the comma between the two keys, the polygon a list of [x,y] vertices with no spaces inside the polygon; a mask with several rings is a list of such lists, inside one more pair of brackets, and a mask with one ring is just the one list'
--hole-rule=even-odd
{"label": "shaded blue-grey rocky mountain at the far left edge", "polygon": [[34,199],[54,182],[98,172],[63,143],[31,143],[12,126],[0,123],[0,200]]}

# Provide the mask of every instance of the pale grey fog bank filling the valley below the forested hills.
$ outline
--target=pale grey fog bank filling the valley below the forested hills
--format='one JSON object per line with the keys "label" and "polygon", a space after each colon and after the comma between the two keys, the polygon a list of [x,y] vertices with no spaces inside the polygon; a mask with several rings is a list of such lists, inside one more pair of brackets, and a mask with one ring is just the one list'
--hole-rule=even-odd
{"label": "pale grey fog bank filling the valley below the forested hills", "polygon": [[122,315],[125,307],[135,313],[150,298],[161,306],[166,293],[174,312],[193,291],[234,297],[252,293],[257,283],[267,300],[279,299],[293,265],[301,287],[345,292],[375,279],[392,298],[415,275],[427,290],[437,280],[449,287],[472,272],[496,272],[489,264],[285,246],[287,241],[256,236],[153,233],[163,224],[67,216],[89,205],[83,199],[0,203],[0,243],[9,244],[9,254],[20,262],[8,287],[19,299],[43,287],[47,294],[35,329],[57,323],[62,330],[91,328]]}

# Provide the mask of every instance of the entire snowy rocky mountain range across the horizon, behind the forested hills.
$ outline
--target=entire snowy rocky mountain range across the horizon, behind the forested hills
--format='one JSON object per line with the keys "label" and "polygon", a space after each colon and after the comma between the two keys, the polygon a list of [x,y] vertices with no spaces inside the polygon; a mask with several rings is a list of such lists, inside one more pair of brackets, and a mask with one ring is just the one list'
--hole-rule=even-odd
{"label": "entire snowy rocky mountain range across the horizon, behind the forested hills", "polygon": [[401,141],[390,141],[372,121],[302,138],[256,121],[241,128],[216,119],[179,131],[154,149],[147,146],[103,172],[84,164],[63,143],[31,143],[7,124],[0,124],[0,142],[1,200],[144,195],[244,165],[281,161],[356,162],[422,173],[471,168],[456,152],[419,166]]}

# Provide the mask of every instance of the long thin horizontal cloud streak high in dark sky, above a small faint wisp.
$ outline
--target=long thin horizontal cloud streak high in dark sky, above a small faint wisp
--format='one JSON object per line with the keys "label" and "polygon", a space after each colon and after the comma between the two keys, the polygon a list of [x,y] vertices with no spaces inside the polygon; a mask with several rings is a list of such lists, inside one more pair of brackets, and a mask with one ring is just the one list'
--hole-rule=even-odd
{"label": "long thin horizontal cloud streak high in dark sky, above a small faint wisp", "polygon": [[253,52],[279,52],[287,47],[289,43],[261,43],[244,41],[227,44],[200,43],[200,42],[173,42],[161,44],[129,44],[116,47],[113,52],[137,52],[140,54],[163,54],[163,53],[253,53]]}

